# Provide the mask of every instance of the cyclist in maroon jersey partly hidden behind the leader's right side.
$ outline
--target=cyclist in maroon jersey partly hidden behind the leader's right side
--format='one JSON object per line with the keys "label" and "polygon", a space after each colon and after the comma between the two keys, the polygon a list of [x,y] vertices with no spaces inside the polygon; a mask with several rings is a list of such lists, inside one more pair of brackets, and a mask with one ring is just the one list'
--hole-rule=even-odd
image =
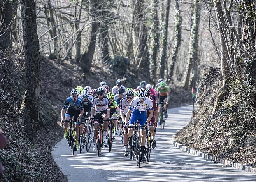
{"label": "cyclist in maroon jersey partly hidden behind the leader's right side", "polygon": [[[156,100],[154,100],[154,98],[150,96],[151,90],[146,89],[146,91],[147,91],[147,97],[152,100],[153,109],[154,109],[154,115],[153,115],[153,117],[151,118],[151,120],[149,122],[149,131],[151,132],[151,135],[152,135],[152,148],[154,149],[154,148],[156,148],[155,127],[157,127],[159,112],[158,112],[158,106],[156,104]],[[147,117],[148,116],[149,116],[149,110],[147,110]]]}

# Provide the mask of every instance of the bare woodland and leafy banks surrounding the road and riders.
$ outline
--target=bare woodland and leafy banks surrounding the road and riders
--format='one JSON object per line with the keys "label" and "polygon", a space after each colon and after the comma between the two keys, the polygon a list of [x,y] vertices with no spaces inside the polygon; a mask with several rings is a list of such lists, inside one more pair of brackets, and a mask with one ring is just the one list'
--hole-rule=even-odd
{"label": "bare woodland and leafy banks surrounding the road and riders", "polygon": [[0,0],[0,16],[1,180],[67,180],[51,160],[63,101],[116,79],[165,79],[170,107],[198,89],[177,141],[256,166],[255,0]]}

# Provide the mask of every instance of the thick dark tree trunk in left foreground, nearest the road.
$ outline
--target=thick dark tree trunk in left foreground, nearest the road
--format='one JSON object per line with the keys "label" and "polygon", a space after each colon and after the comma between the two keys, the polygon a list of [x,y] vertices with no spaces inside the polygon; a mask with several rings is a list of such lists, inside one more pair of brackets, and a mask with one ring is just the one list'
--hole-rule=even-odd
{"label": "thick dark tree trunk in left foreground, nearest the road", "polygon": [[26,85],[20,114],[24,120],[26,135],[32,140],[39,124],[39,101],[41,93],[39,41],[37,36],[35,2],[33,0],[21,0],[21,21],[23,27]]}

